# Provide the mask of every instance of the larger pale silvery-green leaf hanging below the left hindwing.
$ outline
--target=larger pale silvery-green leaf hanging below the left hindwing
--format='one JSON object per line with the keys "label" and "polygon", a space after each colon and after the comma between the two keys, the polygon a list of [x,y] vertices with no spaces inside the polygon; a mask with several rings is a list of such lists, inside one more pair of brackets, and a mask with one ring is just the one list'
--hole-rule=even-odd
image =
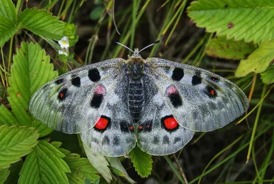
{"label": "larger pale silvery-green leaf hanging below the left hindwing", "polygon": [[112,175],[110,169],[108,168],[108,161],[101,154],[92,151],[84,142],[83,147],[86,152],[86,157],[88,157],[88,161],[90,161],[93,167],[95,167],[95,169],[103,176],[105,181],[110,183],[112,180]]}

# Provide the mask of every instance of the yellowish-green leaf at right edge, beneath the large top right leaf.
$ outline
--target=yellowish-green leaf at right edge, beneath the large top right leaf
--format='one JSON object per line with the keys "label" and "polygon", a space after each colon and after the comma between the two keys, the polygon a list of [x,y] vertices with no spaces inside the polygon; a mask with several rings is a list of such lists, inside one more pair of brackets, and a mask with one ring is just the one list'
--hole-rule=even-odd
{"label": "yellowish-green leaf at right edge, beneath the large top right leaf", "polygon": [[274,41],[262,43],[247,59],[240,60],[235,76],[240,78],[251,72],[262,73],[265,71],[274,58],[273,49]]}

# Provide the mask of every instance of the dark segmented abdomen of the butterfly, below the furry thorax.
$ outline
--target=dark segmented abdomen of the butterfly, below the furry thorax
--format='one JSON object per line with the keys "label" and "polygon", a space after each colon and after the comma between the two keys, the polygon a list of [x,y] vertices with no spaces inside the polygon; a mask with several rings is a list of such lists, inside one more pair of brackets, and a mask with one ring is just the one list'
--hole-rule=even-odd
{"label": "dark segmented abdomen of the butterfly, below the furry thorax", "polygon": [[129,112],[137,121],[142,114],[145,104],[145,91],[142,80],[129,80],[128,106]]}

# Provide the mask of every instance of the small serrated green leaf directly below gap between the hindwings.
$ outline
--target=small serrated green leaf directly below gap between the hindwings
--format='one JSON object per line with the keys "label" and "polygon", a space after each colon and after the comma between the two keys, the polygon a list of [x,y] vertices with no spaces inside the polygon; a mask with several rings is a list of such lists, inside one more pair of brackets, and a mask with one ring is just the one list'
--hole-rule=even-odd
{"label": "small serrated green leaf directly below gap between the hindwings", "polygon": [[135,148],[129,152],[129,158],[132,159],[135,170],[142,178],[151,174],[153,161],[150,154],[142,152],[138,146],[135,146]]}

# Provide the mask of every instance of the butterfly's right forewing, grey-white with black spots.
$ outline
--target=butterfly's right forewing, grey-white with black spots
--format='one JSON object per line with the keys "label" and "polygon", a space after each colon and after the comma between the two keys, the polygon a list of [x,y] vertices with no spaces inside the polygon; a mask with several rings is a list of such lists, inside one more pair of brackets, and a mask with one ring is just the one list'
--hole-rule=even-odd
{"label": "butterfly's right forewing, grey-white with black spots", "polygon": [[146,75],[184,128],[211,131],[242,115],[249,102],[229,80],[210,71],[160,58],[148,58]]}

